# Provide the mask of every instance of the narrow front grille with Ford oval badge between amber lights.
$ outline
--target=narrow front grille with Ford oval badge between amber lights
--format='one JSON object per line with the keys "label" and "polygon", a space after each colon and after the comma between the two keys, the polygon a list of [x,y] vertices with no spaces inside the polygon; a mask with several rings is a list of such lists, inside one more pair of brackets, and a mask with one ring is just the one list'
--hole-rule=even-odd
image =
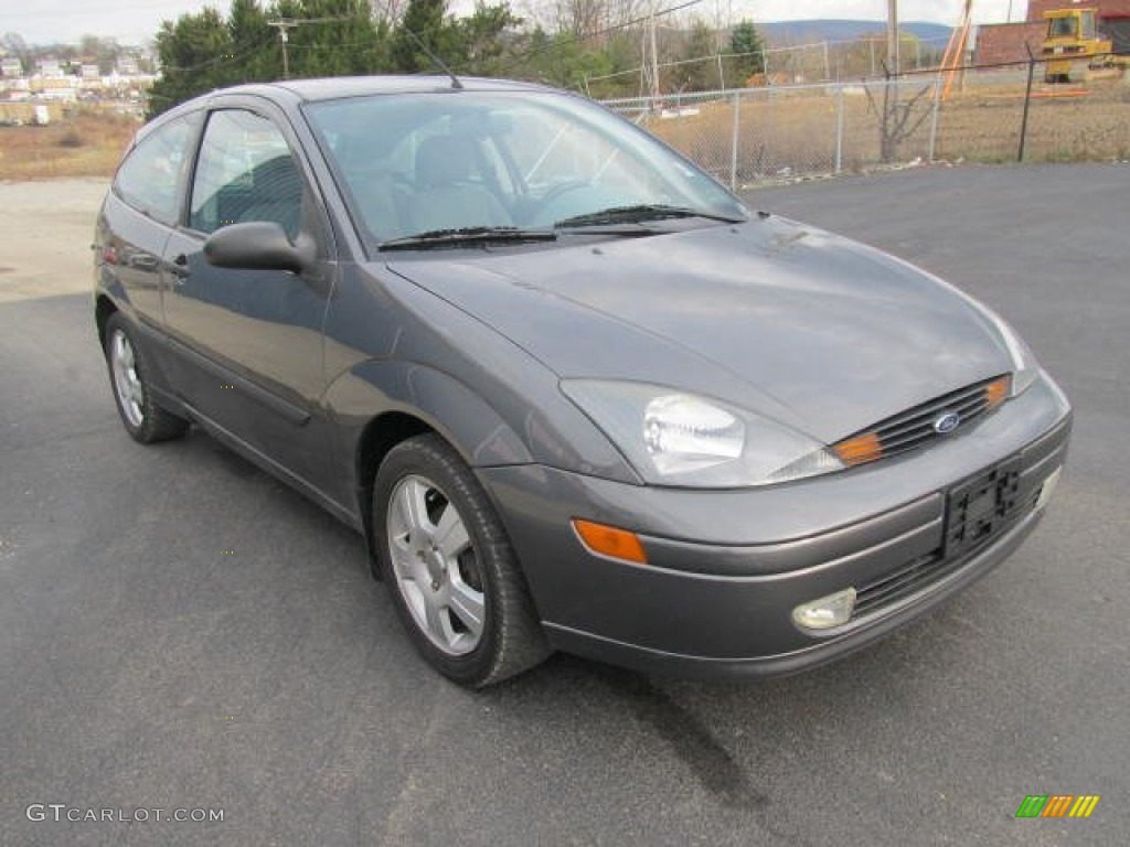
{"label": "narrow front grille with Ford oval badge between amber lights", "polygon": [[[1000,405],[1008,390],[1008,376],[985,379],[879,421],[833,445],[833,449],[849,465],[897,456],[967,427]],[[939,431],[937,425],[947,414],[956,416],[956,425]]]}

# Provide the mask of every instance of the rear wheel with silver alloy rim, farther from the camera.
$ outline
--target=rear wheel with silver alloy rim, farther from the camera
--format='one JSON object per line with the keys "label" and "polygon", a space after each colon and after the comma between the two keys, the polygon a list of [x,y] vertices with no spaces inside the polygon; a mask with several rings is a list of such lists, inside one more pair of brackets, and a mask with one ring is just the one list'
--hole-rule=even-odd
{"label": "rear wheel with silver alloy rim, farther from the camera", "polygon": [[141,444],[179,438],[189,422],[162,409],[149,387],[149,363],[119,313],[106,321],[106,367],[114,403],[130,437]]}

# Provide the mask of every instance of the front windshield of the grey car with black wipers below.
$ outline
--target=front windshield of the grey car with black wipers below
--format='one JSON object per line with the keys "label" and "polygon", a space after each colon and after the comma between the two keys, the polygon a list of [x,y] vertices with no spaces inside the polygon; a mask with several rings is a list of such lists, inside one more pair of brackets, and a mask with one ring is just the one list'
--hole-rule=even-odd
{"label": "front windshield of the grey car with black wipers below", "polygon": [[545,229],[612,209],[744,220],[711,176],[623,119],[556,93],[436,91],[314,103],[307,114],[371,245],[425,233]]}

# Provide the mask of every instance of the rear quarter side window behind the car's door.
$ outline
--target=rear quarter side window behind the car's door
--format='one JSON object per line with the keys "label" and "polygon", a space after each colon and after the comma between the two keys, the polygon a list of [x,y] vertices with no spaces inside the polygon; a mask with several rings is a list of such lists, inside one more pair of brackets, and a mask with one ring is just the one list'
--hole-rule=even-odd
{"label": "rear quarter side window behind the car's door", "polygon": [[175,224],[191,130],[191,121],[182,117],[141,139],[118,168],[118,195],[151,218]]}

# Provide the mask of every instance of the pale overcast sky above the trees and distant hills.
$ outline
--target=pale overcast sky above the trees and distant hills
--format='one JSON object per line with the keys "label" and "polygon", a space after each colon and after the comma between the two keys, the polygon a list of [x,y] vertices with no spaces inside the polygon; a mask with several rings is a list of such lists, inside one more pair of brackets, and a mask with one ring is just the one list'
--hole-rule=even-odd
{"label": "pale overcast sky above the trees and distant hills", "polygon": [[[553,0],[512,0],[520,12],[531,5],[550,5]],[[676,6],[669,0],[661,6]],[[473,0],[455,0],[455,8],[471,8]],[[853,18],[885,20],[887,0],[703,0],[702,12],[713,16],[715,9],[733,18],[754,20],[803,20],[811,18]],[[73,43],[86,34],[112,36],[122,44],[140,44],[153,38],[163,19],[175,19],[185,12],[212,6],[227,14],[227,0],[0,0],[0,33],[19,33],[32,44]],[[904,21],[929,20],[955,24],[960,16],[962,0],[899,0],[898,14]],[[977,0],[974,17],[979,21],[1003,21],[1011,8],[1012,19],[1024,17],[1026,0]]]}

